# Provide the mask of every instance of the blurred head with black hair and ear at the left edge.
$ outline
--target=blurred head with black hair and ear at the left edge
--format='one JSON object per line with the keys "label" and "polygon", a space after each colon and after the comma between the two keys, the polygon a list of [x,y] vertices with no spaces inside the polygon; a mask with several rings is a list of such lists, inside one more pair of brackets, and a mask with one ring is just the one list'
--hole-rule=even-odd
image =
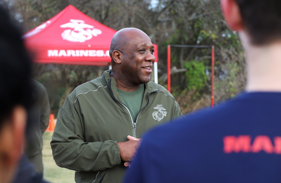
{"label": "blurred head with black hair and ear at the left edge", "polygon": [[0,182],[10,182],[23,150],[31,105],[31,60],[21,31],[0,1]]}

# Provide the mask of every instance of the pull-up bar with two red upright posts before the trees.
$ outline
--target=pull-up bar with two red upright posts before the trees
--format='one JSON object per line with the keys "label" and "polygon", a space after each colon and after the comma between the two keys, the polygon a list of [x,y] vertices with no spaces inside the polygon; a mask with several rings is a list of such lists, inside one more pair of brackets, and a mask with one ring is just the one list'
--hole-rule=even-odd
{"label": "pull-up bar with two red upright posts before the trees", "polygon": [[214,106],[214,65],[215,65],[215,47],[205,45],[168,45],[167,47],[167,88],[171,92],[171,47],[181,48],[212,48],[212,86],[211,86],[211,107]]}

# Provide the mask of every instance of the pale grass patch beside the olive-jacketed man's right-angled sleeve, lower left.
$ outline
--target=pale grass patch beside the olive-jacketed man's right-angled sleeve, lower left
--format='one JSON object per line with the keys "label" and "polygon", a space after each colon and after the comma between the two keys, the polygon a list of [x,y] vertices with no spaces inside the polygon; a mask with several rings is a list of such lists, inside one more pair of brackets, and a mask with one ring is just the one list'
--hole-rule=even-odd
{"label": "pale grass patch beside the olive-jacketed man's right-angled sleeve, lower left", "polygon": [[73,170],[60,168],[56,165],[51,149],[51,139],[53,132],[44,132],[43,134],[43,162],[44,179],[52,183],[75,183]]}

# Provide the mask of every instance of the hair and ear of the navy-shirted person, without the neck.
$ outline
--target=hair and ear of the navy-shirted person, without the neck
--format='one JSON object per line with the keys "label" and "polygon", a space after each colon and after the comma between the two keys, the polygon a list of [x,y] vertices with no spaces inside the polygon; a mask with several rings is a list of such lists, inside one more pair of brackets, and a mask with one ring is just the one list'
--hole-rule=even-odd
{"label": "hair and ear of the navy-shirted person, without the neck", "polygon": [[252,45],[281,40],[280,0],[221,0],[225,19],[231,29],[247,34]]}

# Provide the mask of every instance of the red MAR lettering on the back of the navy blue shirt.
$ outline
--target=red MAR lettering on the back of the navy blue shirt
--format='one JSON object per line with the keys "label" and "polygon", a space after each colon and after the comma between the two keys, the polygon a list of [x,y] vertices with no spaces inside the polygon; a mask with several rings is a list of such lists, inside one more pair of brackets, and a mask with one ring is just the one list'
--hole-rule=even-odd
{"label": "red MAR lettering on the back of the navy blue shirt", "polygon": [[257,136],[254,138],[253,144],[251,145],[250,135],[236,136],[225,136],[223,138],[223,151],[225,153],[232,152],[251,152],[258,153],[264,151],[266,153],[281,154],[281,137],[277,136],[273,139],[274,145],[268,136]]}

